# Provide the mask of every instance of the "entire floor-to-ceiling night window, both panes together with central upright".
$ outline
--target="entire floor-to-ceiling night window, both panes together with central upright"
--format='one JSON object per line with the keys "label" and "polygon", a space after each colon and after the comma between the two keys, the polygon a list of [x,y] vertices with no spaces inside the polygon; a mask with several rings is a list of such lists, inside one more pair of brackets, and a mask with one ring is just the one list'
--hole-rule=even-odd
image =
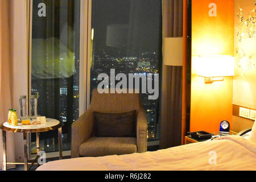
{"label": "entire floor-to-ceiling night window, both panes together with central upright", "polygon": [[[86,109],[79,108],[83,105],[81,97],[85,98],[92,89],[97,88],[100,73],[109,74],[110,69],[115,69],[116,74],[160,75],[161,1],[92,0],[92,6],[84,10],[81,6],[88,0],[31,2],[30,90],[31,94],[38,96],[39,115],[64,123],[63,150],[67,151],[71,149],[71,124]],[[80,17],[81,10],[85,11],[84,14],[92,12],[89,18],[91,22],[87,19],[81,21],[84,22],[81,24],[83,27],[80,26],[80,20],[84,18]],[[92,29],[89,30],[85,24],[90,24]],[[92,31],[92,37],[81,38],[81,30],[85,36],[86,31]],[[89,44],[88,40],[91,40]],[[90,45],[87,50],[80,47],[86,44]],[[88,51],[91,51],[91,57],[86,57]],[[82,53],[84,57],[80,57]],[[90,69],[84,73],[87,64]],[[89,74],[90,80],[86,80],[87,76],[81,76],[83,74]],[[88,93],[85,92],[88,88],[81,88],[81,82],[89,85]],[[81,90],[84,92],[82,96],[79,95]],[[160,96],[156,100],[148,100],[148,93],[141,96],[148,119],[148,140],[158,140]],[[86,97],[82,101],[87,100],[89,98]],[[35,153],[34,135],[31,140],[31,151]],[[57,144],[56,131],[40,134],[41,150],[57,151]]]}

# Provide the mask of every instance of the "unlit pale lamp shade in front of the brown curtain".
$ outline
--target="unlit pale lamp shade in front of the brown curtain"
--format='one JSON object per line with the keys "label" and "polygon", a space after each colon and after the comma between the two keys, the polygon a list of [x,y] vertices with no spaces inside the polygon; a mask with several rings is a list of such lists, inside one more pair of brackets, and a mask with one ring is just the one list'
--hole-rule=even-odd
{"label": "unlit pale lamp shade in front of the brown curtain", "polygon": [[183,38],[164,38],[164,65],[183,66]]}

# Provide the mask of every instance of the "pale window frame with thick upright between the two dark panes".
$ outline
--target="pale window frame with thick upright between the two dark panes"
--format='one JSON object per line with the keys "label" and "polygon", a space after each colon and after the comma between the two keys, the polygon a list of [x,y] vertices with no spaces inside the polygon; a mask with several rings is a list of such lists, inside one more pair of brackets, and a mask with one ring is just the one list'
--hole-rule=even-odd
{"label": "pale window frame with thick upright between the two dark panes", "polygon": [[[79,76],[79,117],[90,106],[90,59],[92,36],[92,1],[80,0],[80,76]],[[31,97],[31,44],[32,44],[32,8],[33,0],[27,0],[27,34],[28,34],[28,99]],[[30,104],[28,103],[28,109]],[[35,155],[31,154],[31,134],[28,136],[28,159]],[[159,145],[159,140],[147,142],[147,146]],[[64,156],[69,156],[70,151],[64,151]],[[48,152],[47,156],[57,157],[58,152]]]}

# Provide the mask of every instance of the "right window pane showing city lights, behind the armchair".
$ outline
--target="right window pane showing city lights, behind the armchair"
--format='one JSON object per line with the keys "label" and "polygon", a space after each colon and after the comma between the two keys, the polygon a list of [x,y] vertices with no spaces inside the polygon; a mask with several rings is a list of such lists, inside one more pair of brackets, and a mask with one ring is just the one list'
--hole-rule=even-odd
{"label": "right window pane showing city lights, behind the armchair", "polygon": [[[161,13],[160,0],[92,0],[91,93],[101,82],[98,75],[110,75],[110,69],[127,77],[129,73],[161,73]],[[148,140],[158,140],[160,96],[156,100],[148,100],[148,93],[141,97]]]}

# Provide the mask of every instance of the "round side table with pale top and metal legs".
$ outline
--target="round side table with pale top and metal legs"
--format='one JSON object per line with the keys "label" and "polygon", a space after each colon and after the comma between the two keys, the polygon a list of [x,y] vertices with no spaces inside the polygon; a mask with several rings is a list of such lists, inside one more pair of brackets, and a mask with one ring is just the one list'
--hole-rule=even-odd
{"label": "round side table with pale top and metal legs", "polygon": [[[24,164],[24,170],[28,170],[28,155],[27,155],[27,147],[28,147],[28,134],[36,133],[36,151],[37,154],[40,152],[39,147],[39,133],[46,132],[50,130],[58,129],[58,137],[59,137],[59,159],[62,159],[62,126],[63,123],[56,120],[47,118],[46,122],[41,123],[40,125],[22,125],[18,123],[18,126],[11,126],[8,122],[2,123],[0,125],[0,129],[2,130],[2,139],[3,139],[3,171],[6,171],[7,164]],[[24,141],[24,163],[8,163],[6,161],[6,131],[15,132],[15,133],[23,133],[23,141]],[[39,156],[36,156],[38,159]],[[35,160],[36,160],[35,159]],[[32,163],[32,165],[34,162]]]}

